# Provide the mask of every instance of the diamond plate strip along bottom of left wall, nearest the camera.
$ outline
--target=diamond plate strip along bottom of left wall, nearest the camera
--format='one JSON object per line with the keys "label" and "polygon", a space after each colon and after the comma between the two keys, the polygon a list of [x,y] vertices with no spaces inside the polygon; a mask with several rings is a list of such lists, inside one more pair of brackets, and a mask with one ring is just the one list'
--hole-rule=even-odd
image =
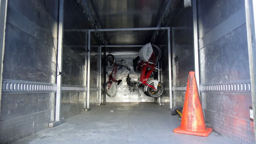
{"label": "diamond plate strip along bottom of left wall, nearest the camera", "polygon": [[[53,114],[53,115],[52,115]],[[0,143],[12,143],[48,127],[55,119],[55,109],[19,116],[0,122]]]}

